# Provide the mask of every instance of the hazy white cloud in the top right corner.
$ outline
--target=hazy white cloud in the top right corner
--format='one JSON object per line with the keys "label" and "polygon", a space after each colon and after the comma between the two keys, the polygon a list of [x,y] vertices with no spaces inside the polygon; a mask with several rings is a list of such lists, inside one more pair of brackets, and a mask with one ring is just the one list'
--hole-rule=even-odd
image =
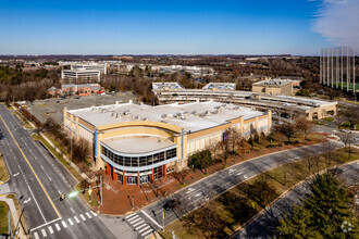
{"label": "hazy white cloud in the top right corner", "polygon": [[313,30],[335,46],[359,52],[359,0],[321,0]]}

